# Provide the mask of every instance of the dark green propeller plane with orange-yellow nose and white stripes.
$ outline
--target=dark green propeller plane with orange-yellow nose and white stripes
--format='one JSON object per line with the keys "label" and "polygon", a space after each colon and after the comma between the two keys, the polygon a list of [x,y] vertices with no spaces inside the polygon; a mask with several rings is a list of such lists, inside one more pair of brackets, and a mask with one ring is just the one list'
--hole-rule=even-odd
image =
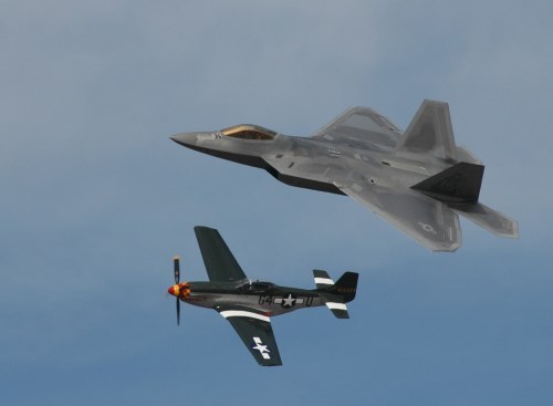
{"label": "dark green propeller plane with orange-yellow nose and white stripes", "polygon": [[179,259],[175,257],[175,284],[168,292],[177,298],[177,324],[180,301],[215,309],[230,322],[260,365],[274,366],[282,365],[282,361],[271,316],[326,305],[336,317],[349,317],[345,303],[355,299],[357,273],[345,272],[334,283],[325,271],[314,270],[314,290],[252,281],[246,277],[219,231],[207,227],[195,227],[194,230],[209,282],[181,283]]}

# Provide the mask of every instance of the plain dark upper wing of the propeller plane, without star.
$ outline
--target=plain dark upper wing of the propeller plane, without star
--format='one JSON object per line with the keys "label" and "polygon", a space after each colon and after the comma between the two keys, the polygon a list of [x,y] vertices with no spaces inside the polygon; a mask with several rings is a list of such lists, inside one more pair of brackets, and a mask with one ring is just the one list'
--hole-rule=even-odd
{"label": "plain dark upper wing of the propeller plane, without star", "polygon": [[246,274],[219,231],[200,226],[195,227],[194,231],[211,282],[233,282],[246,279]]}

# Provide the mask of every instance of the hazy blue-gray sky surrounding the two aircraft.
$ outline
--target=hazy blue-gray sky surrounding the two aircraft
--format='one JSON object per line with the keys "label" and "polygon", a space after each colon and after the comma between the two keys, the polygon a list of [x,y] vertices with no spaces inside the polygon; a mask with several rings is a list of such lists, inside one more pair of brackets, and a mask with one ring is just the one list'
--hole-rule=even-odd
{"label": "hazy blue-gray sky surrounding the two aircraft", "polygon": [[[549,1],[0,3],[0,403],[551,405]],[[295,189],[168,136],[255,123],[309,136],[372,106],[406,127],[450,103],[481,200],[519,240],[462,221],[427,252],[353,200]],[[352,319],[275,317],[261,368],[216,312],[175,325],[171,257],[192,227],[246,272],[312,287],[361,273]]]}

